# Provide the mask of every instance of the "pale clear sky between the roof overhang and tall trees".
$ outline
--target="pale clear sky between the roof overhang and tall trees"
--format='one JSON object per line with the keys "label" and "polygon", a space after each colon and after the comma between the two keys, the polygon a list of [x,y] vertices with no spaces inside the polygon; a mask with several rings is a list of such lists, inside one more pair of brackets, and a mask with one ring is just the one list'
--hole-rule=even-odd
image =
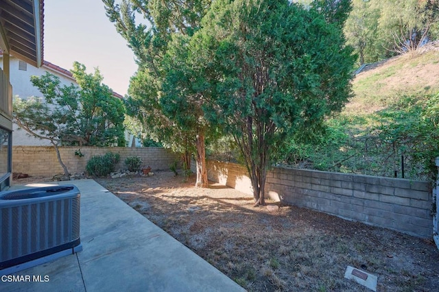
{"label": "pale clear sky between the roof overhang and tall trees", "polygon": [[110,23],[101,0],[44,1],[44,59],[64,69],[98,67],[103,83],[125,95],[137,71],[134,54]]}

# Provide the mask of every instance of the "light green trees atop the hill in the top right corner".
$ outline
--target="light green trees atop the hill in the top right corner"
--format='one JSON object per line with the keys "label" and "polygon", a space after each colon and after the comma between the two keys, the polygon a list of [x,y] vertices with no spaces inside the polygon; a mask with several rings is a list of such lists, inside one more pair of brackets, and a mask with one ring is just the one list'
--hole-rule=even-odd
{"label": "light green trees atop the hill in the top right corner", "polygon": [[436,0],[353,0],[344,27],[359,63],[376,62],[396,53],[414,53],[426,40],[439,36]]}

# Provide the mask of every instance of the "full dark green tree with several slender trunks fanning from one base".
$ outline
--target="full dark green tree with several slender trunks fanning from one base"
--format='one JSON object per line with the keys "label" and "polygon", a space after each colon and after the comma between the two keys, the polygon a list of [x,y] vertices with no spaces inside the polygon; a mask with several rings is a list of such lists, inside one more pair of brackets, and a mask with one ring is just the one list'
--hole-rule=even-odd
{"label": "full dark green tree with several slender trunks fanning from one base", "polygon": [[273,154],[294,135],[315,134],[351,95],[348,2],[215,1],[187,46],[206,117],[235,138],[256,204],[265,204]]}

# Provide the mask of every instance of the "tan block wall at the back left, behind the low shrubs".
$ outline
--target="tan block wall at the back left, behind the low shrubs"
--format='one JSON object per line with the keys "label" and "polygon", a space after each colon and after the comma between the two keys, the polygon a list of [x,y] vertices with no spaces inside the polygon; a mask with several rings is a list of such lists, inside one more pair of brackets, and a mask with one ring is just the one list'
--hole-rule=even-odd
{"label": "tan block wall at the back left, behind the low shrubs", "polygon": [[[78,149],[84,156],[75,155]],[[69,169],[69,173],[82,173],[92,156],[106,152],[120,154],[121,160],[116,169],[126,169],[125,158],[128,156],[139,156],[143,160],[143,166],[149,165],[152,171],[169,169],[171,162],[179,159],[178,155],[162,147],[60,147],[62,162]],[[64,172],[54,147],[50,146],[13,146],[12,171],[29,175],[56,175]]]}

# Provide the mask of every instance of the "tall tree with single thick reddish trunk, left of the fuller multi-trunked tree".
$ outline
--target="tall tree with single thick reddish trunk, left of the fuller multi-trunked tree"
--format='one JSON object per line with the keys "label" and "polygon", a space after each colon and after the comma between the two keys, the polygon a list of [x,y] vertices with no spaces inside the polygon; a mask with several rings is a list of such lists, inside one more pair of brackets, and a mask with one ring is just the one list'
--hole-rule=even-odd
{"label": "tall tree with single thick reddish trunk, left of the fuller multi-trunked tree", "polygon": [[[115,23],[117,32],[128,42],[139,64],[139,70],[132,77],[127,100],[131,124],[164,145],[183,151],[185,163],[189,164],[190,154],[196,149],[197,186],[207,186],[207,170],[204,156],[204,140],[208,127],[198,101],[187,96],[185,108],[174,103],[172,98],[181,97],[187,87],[177,93],[169,90],[165,81],[169,78],[169,68],[174,67],[173,46],[180,37],[191,37],[200,28],[200,22],[211,5],[211,0],[183,1],[139,1],[103,0],[110,21]],[[136,22],[136,15],[143,17],[144,23]],[[168,57],[167,57],[168,56]],[[177,66],[178,64],[176,64]],[[140,126],[140,127],[139,127]],[[196,147],[194,147],[195,145]]]}

